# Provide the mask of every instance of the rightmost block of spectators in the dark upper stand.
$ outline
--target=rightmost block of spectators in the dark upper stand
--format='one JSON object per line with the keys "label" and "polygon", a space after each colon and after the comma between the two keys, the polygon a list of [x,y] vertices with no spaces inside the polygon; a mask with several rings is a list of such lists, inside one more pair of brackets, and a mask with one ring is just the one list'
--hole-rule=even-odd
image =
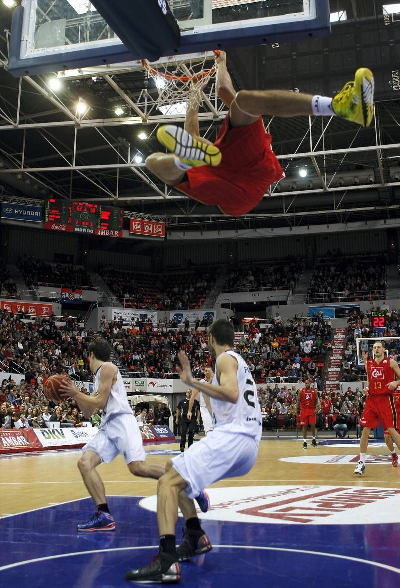
{"label": "rightmost block of spectators in the dark upper stand", "polygon": [[317,261],[307,290],[308,303],[354,302],[386,298],[386,255],[346,256],[328,251]]}

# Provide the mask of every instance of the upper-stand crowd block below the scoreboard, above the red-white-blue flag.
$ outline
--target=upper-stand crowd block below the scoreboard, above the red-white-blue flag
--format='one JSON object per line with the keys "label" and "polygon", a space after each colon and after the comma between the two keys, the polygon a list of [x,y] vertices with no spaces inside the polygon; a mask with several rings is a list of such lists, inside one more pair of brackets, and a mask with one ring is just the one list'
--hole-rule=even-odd
{"label": "upper-stand crowd block below the scoreboard, above the red-white-blue flag", "polygon": [[28,289],[33,289],[34,286],[94,288],[91,278],[83,266],[71,263],[51,263],[27,255],[19,258],[17,265]]}

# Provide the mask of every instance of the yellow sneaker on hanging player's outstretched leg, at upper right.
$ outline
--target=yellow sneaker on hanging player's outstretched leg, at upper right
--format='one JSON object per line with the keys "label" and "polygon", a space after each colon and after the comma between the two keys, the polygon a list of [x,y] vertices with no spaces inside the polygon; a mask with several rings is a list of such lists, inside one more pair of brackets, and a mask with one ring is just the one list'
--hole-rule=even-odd
{"label": "yellow sneaker on hanging player's outstretched leg, at upper right", "polygon": [[332,101],[336,115],[362,126],[371,125],[374,120],[374,90],[372,71],[367,68],[358,69],[354,82],[347,82]]}

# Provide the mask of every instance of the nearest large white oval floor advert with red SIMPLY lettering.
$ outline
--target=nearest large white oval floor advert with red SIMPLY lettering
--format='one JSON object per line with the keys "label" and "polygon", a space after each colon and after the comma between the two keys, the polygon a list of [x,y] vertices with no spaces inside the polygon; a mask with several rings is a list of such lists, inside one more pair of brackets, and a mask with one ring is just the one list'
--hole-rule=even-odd
{"label": "nearest large white oval floor advert with red SIMPLY lettering", "polygon": [[[364,524],[400,521],[400,489],[371,486],[242,486],[207,490],[202,519],[235,523]],[[157,497],[140,505],[156,512]]]}

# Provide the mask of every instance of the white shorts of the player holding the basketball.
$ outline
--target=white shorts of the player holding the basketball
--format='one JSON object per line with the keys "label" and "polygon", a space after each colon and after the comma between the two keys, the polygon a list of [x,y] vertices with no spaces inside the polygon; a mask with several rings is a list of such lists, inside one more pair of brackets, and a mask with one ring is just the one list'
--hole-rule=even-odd
{"label": "white shorts of the player holding the basketball", "polygon": [[146,452],[142,434],[134,415],[119,415],[105,423],[97,435],[82,447],[82,452],[95,451],[105,463],[122,453],[126,463],[144,462]]}

